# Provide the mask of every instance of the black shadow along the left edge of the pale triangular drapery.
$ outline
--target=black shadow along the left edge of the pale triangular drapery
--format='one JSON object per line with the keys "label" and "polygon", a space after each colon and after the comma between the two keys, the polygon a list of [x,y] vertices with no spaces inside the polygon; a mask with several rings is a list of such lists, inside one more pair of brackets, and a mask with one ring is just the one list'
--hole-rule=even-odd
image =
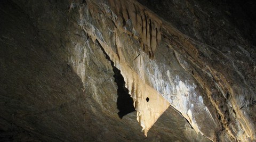
{"label": "black shadow along the left edge of the pale triangular drapery", "polygon": [[135,108],[133,106],[133,100],[131,95],[129,94],[129,90],[125,88],[125,81],[124,81],[124,77],[121,74],[121,71],[114,66],[114,62],[111,61],[110,57],[107,55],[105,50],[101,46],[100,48],[102,49],[103,53],[106,55],[106,59],[110,61],[111,66],[113,68],[113,72],[115,73],[113,77],[115,78],[115,82],[118,87],[117,88],[118,97],[117,97],[116,105],[119,112],[117,114],[119,118],[122,119],[123,116],[125,116],[126,114],[129,114],[135,111]]}

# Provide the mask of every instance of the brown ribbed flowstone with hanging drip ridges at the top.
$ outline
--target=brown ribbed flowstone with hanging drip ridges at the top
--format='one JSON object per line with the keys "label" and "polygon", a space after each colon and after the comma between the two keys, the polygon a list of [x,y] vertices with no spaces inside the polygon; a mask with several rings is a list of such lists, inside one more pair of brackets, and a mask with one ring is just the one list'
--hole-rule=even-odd
{"label": "brown ribbed flowstone with hanging drip ridges at the top", "polygon": [[111,11],[117,15],[113,19],[116,27],[137,39],[143,51],[153,58],[161,41],[162,21],[133,1],[109,0],[109,4]]}

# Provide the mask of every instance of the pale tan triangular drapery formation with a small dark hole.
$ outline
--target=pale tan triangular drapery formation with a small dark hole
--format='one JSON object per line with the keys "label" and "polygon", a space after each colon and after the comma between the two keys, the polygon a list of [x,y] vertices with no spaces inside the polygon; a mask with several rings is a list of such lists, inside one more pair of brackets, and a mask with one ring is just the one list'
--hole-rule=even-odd
{"label": "pale tan triangular drapery formation with a small dark hole", "polygon": [[[129,90],[129,94],[133,98],[133,105],[137,111],[137,120],[140,123],[145,136],[147,136],[149,129],[157,121],[159,116],[161,116],[170,106],[170,103],[167,102],[154,88],[143,82],[138,74],[125,62],[120,50],[120,40],[117,36],[116,45],[119,55],[117,55],[107,43],[95,35],[93,28],[88,29],[83,27],[83,29],[91,36],[93,41],[99,41],[111,61],[114,62],[116,68],[121,71],[124,81],[126,82],[125,87]],[[115,32],[119,32],[118,29]]]}

